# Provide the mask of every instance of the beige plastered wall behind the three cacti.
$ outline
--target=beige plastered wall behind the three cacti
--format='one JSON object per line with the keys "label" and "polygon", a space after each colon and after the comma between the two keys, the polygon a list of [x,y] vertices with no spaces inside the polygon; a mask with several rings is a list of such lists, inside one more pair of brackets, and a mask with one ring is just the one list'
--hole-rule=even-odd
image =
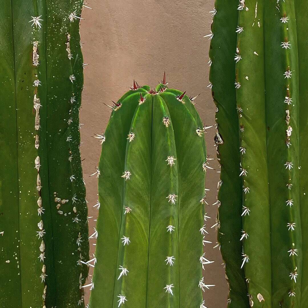
{"label": "beige plastered wall behind the three cacti", "polygon": [[[86,181],[89,216],[96,216],[97,182],[88,177],[95,172],[98,164],[100,145],[91,138],[93,133],[104,132],[109,119],[108,108],[103,103],[117,100],[135,78],[139,84],[155,87],[167,74],[169,87],[197,95],[197,110],[207,125],[215,123],[215,109],[208,82],[209,41],[203,38],[209,33],[212,18],[209,14],[214,6],[213,0],[89,0],[93,10],[85,9],[81,22],[81,41],[84,42],[84,62],[89,63],[84,70],[85,91],[83,92],[81,123],[81,155],[83,173]],[[205,136],[210,157],[216,157],[213,144],[215,130],[211,128]],[[218,170],[217,161],[211,162]],[[210,206],[206,211],[215,223],[217,207],[212,204],[217,197],[215,171],[207,173],[207,187]],[[95,226],[90,222],[90,232]],[[228,286],[224,277],[222,259],[216,242],[215,229],[210,229],[206,257],[215,263],[206,265],[205,282],[216,284],[206,290],[208,308],[226,307]],[[94,246],[91,245],[91,252]],[[91,269],[91,268],[90,268]],[[87,296],[85,302],[87,303]],[[105,307],[104,307],[105,308]],[[106,307],[109,308],[109,307]],[[160,308],[160,307],[159,307]],[[196,307],[197,308],[197,307]]]}

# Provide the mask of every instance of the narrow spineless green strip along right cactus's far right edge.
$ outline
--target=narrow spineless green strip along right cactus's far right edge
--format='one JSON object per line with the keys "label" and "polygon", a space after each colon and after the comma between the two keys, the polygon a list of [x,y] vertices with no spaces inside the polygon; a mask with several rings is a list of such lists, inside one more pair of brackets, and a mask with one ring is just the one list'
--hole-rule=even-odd
{"label": "narrow spineless green strip along right cactus's far right edge", "polygon": [[299,155],[300,161],[300,202],[301,202],[301,223],[302,223],[302,296],[300,307],[305,307],[308,302],[308,41],[307,41],[307,12],[308,2],[296,0],[295,13],[297,25],[298,57],[299,57]]}

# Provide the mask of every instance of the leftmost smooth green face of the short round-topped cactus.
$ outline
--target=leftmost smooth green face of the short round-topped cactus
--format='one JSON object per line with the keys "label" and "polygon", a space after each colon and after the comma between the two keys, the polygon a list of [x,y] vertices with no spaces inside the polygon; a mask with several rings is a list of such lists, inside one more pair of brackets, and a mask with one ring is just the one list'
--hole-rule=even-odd
{"label": "leftmost smooth green face of the short round-topped cactus", "polygon": [[98,179],[100,214],[96,224],[99,236],[95,257],[98,263],[93,274],[95,288],[91,291],[90,307],[113,305],[114,285],[118,278],[116,275],[119,274],[114,256],[117,255],[120,236],[119,217],[122,217],[123,213],[124,182],[121,175],[125,168],[126,138],[139,97],[139,91],[132,91],[131,95],[119,99],[122,105],[112,111],[111,120],[104,133],[106,140],[102,144],[98,166],[102,171]]}

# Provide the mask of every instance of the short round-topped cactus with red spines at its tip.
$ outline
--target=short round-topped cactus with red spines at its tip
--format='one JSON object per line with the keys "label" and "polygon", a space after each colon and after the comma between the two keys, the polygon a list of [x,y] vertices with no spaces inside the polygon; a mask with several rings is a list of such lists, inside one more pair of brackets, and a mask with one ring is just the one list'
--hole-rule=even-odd
{"label": "short round-topped cactus with red spines at its tip", "polygon": [[[203,124],[190,99],[134,85],[111,107],[97,169],[90,308],[205,307]],[[94,235],[93,234],[93,235]]]}

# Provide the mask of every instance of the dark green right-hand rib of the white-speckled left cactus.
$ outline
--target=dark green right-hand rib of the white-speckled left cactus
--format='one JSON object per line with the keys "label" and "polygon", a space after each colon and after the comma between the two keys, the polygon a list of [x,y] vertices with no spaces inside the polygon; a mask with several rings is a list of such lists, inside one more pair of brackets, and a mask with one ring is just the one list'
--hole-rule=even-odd
{"label": "dark green right-hand rib of the white-speckled left cactus", "polygon": [[[49,13],[46,29],[48,175],[56,280],[53,285],[57,292],[55,303],[48,299],[48,296],[47,302],[48,305],[59,308],[69,305],[84,306],[81,286],[86,276],[81,276],[81,273],[87,271],[86,265],[79,262],[81,247],[85,244],[84,252],[88,247],[85,190],[80,167],[77,167],[78,164],[80,165],[77,110],[80,104],[82,67],[79,65],[79,71],[75,76],[73,70],[77,69],[78,62],[76,67],[74,63],[78,61],[79,54],[76,53],[72,59],[69,59],[66,50],[68,34],[71,37],[75,34],[74,39],[79,39],[74,29],[78,26],[78,18],[75,18],[76,26],[73,26],[73,22],[68,17],[72,12],[75,16],[79,16],[82,3],[78,1],[71,5],[67,0],[59,3],[55,9],[53,2],[47,2]],[[73,54],[73,51],[71,53]],[[55,61],[53,57],[57,60]],[[76,82],[75,85],[74,82]],[[72,99],[73,97],[75,99]],[[79,101],[74,102],[76,98]],[[72,120],[71,123],[69,119]],[[63,203],[56,201],[55,198],[68,201]],[[78,238],[81,240],[79,243]],[[87,255],[82,257],[87,261]],[[71,287],[67,288],[67,286]]]}

